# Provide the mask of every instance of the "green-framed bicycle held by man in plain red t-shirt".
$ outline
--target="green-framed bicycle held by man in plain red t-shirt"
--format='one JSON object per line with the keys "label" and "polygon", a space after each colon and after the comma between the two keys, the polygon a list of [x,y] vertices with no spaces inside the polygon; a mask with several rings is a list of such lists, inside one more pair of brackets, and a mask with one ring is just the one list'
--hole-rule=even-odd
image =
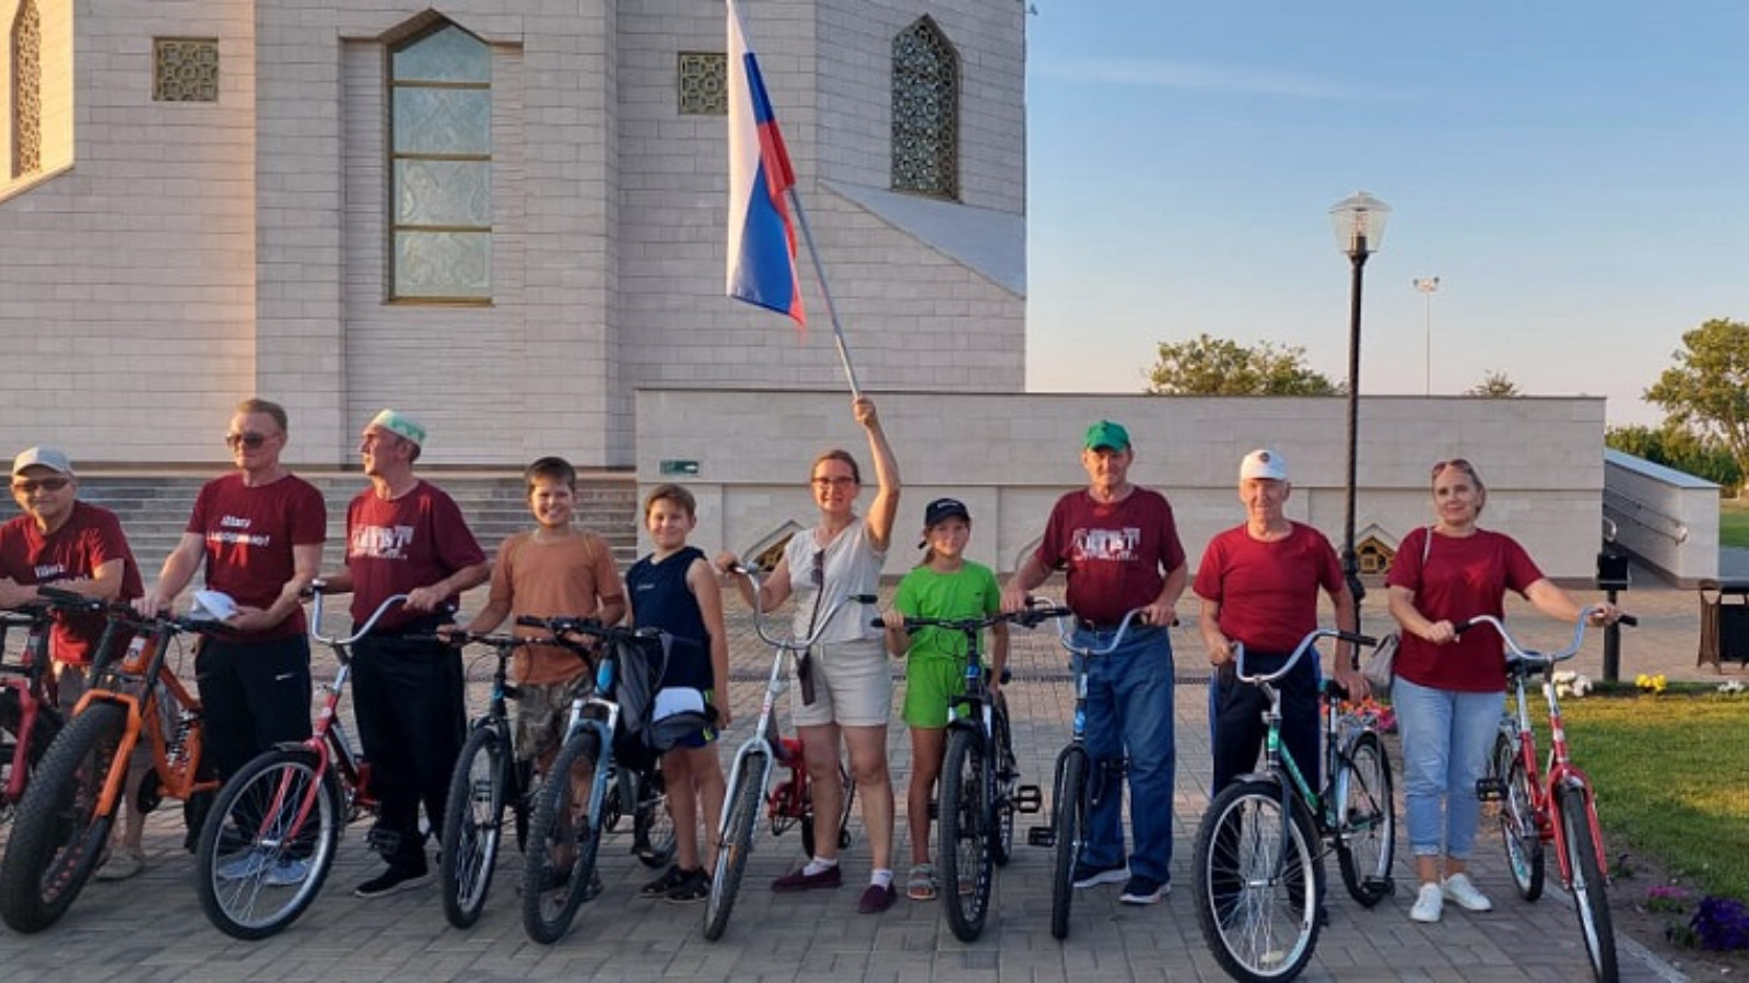
{"label": "green-framed bicycle held by man in plain red t-shirt", "polygon": [[1282,745],[1282,693],[1277,680],[1312,652],[1319,638],[1378,645],[1354,631],[1319,628],[1275,672],[1245,672],[1245,647],[1233,645],[1240,682],[1263,687],[1263,771],[1221,789],[1196,827],[1196,924],[1221,969],[1235,980],[1293,980],[1312,960],[1322,918],[1324,855],[1336,852],[1341,882],[1364,908],[1396,885],[1396,813],[1390,757],[1369,717],[1343,714],[1341,684],[1319,687],[1324,721],[1324,784],[1312,787]]}

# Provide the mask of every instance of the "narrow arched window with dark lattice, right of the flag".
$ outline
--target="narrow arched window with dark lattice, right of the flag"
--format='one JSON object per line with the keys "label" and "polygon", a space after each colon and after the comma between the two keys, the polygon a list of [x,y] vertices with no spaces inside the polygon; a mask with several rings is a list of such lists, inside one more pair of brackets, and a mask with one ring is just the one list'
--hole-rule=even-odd
{"label": "narrow arched window with dark lattice, right of the flag", "polygon": [[929,17],[892,40],[892,187],[960,196],[960,59]]}

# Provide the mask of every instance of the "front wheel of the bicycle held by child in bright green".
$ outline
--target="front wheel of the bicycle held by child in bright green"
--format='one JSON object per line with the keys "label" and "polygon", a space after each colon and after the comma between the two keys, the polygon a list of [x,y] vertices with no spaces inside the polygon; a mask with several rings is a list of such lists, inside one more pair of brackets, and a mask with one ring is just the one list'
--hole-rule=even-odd
{"label": "front wheel of the bicycle held by child in bright green", "polygon": [[979,738],[971,728],[955,728],[941,764],[941,897],[948,927],[964,943],[983,932],[995,876],[990,782]]}

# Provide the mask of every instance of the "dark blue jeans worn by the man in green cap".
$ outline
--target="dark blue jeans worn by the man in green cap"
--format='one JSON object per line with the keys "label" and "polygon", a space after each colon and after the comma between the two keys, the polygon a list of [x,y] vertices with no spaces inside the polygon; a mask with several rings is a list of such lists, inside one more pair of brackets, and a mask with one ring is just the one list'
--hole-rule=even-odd
{"label": "dark blue jeans worn by the man in green cap", "polygon": [[[1074,644],[1098,649],[1111,644],[1111,635],[1077,630]],[[1172,638],[1165,628],[1132,628],[1118,651],[1088,659],[1086,749],[1093,759],[1088,778],[1097,798],[1081,862],[1123,864],[1123,794],[1102,777],[1114,773],[1128,752],[1135,836],[1130,873],[1163,883],[1172,880]]]}

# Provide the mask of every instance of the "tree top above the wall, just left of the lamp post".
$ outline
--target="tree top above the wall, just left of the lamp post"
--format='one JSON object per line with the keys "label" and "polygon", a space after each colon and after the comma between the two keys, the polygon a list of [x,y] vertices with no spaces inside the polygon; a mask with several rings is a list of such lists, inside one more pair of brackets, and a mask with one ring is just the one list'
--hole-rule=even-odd
{"label": "tree top above the wall, just left of the lamp post", "polygon": [[1307,366],[1307,350],[1261,341],[1244,346],[1230,338],[1198,334],[1160,343],[1160,360],[1147,371],[1149,395],[1336,395],[1343,392]]}

